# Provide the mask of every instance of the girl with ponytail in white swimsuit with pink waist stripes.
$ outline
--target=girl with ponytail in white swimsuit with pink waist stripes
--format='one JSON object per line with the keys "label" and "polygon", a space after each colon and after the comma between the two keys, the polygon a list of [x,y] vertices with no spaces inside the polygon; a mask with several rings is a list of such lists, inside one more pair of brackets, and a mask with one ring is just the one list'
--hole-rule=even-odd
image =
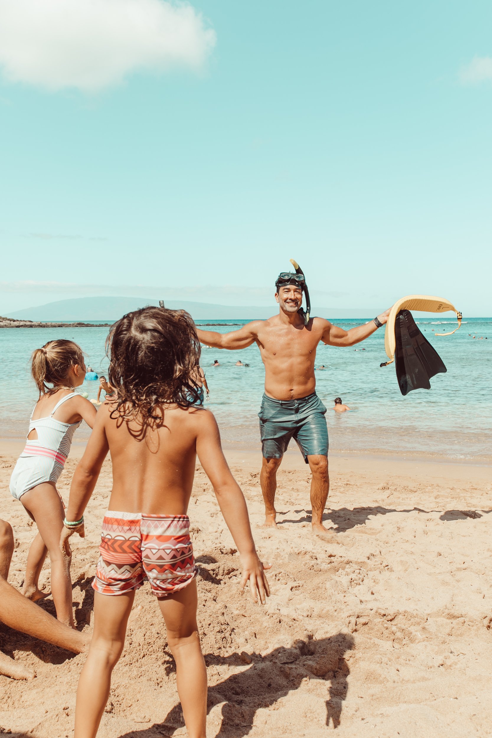
{"label": "girl with ponytail in white swimsuit with pink waist stripes", "polygon": [[36,348],[31,373],[39,400],[31,414],[26,447],[10,478],[10,492],[38,525],[38,535],[27,556],[23,593],[34,601],[46,597],[38,589],[38,580],[49,553],[57,618],[73,628],[70,559],[59,545],[64,506],[56,483],[75,430],[82,420],[92,427],[97,410],[74,391],[83,383],[86,367],[83,351],[73,341],[49,341],[43,348]]}

